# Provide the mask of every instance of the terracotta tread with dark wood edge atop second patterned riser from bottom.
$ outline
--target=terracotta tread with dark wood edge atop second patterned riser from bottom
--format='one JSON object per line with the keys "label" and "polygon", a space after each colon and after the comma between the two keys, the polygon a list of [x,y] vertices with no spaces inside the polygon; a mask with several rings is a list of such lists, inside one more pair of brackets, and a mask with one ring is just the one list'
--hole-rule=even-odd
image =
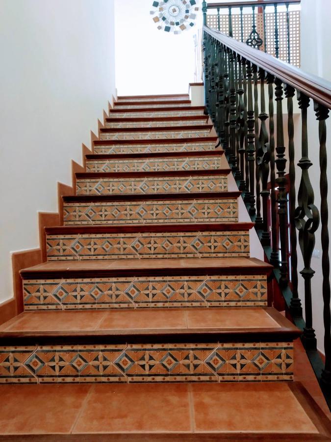
{"label": "terracotta tread with dark wood edge atop second patterned riser from bottom", "polygon": [[33,272],[96,272],[120,270],[193,270],[205,272],[207,269],[214,271],[261,271],[269,272],[272,266],[257,258],[168,258],[168,259],[103,259],[89,261],[52,261],[44,262],[33,267],[21,270],[22,275]]}

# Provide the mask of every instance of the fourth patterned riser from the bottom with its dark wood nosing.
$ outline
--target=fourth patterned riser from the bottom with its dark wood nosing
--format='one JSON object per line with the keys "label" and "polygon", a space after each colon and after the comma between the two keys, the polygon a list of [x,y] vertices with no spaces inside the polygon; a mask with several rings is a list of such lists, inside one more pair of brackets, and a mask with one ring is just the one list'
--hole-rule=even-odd
{"label": "fourth patterned riser from the bottom with its dark wood nosing", "polygon": [[240,192],[63,197],[64,225],[238,221]]}

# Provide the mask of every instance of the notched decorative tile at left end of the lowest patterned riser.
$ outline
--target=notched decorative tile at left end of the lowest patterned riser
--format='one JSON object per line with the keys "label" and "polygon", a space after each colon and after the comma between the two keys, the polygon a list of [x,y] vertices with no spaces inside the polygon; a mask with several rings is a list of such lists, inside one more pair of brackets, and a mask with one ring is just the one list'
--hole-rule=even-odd
{"label": "notched decorative tile at left end of the lowest patterned riser", "polygon": [[34,384],[37,379],[25,365],[36,346],[0,347],[0,384]]}

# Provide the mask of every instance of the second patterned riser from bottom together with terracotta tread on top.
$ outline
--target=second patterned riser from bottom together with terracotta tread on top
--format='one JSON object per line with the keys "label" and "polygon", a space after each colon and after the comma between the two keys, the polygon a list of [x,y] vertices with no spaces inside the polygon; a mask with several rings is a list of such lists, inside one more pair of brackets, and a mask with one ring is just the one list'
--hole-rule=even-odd
{"label": "second patterned riser from bottom together with terracotta tread on top", "polygon": [[256,258],[51,261],[21,270],[25,310],[267,306]]}

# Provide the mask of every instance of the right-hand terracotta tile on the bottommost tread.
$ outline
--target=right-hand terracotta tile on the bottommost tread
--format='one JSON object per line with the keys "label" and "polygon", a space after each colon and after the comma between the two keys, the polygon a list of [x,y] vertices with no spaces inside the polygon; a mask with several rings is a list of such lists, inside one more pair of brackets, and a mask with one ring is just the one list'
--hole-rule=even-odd
{"label": "right-hand terracotta tile on the bottommost tread", "polygon": [[191,391],[197,432],[318,433],[286,384],[192,384]]}

